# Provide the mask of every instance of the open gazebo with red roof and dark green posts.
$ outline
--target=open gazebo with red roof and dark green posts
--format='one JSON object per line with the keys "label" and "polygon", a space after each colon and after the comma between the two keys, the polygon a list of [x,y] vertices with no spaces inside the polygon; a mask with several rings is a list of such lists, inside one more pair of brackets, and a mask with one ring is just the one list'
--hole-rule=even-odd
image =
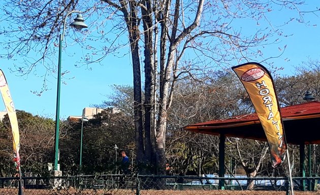
{"label": "open gazebo with red roof and dark green posts", "polygon": [[[286,142],[300,146],[301,177],[305,177],[305,144],[308,144],[308,157],[310,161],[310,144],[320,144],[320,102],[312,101],[299,105],[280,108],[283,120]],[[219,143],[219,177],[225,173],[225,141],[226,137],[236,137],[267,141],[264,129],[257,114],[235,116],[224,120],[211,120],[207,122],[190,124],[184,130],[210,134],[220,137]],[[309,173],[311,165],[309,164]],[[309,175],[311,176],[311,175]],[[305,185],[305,182],[303,182]]]}

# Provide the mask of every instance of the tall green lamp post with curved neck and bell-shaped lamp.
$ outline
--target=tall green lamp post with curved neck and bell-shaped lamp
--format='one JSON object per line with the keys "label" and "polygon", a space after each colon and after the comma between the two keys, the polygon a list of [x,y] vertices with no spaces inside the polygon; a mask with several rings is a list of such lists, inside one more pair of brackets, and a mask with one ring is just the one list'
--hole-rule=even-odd
{"label": "tall green lamp post with curved neck and bell-shaped lamp", "polygon": [[59,117],[60,117],[60,84],[61,84],[61,52],[62,52],[62,41],[65,37],[66,19],[72,13],[78,13],[77,18],[74,19],[70,25],[75,27],[77,30],[87,28],[88,26],[84,23],[84,20],[79,11],[69,12],[65,20],[63,21],[62,35],[59,36],[59,56],[58,56],[58,78],[57,78],[57,99],[56,99],[56,112],[55,112],[55,137],[54,137],[54,171],[60,171],[58,169],[58,156],[59,156]]}

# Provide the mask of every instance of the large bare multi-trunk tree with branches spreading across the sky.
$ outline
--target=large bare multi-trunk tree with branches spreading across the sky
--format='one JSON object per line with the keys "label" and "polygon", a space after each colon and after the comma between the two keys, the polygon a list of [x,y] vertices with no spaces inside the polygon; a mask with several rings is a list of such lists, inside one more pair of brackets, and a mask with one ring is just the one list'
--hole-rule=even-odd
{"label": "large bare multi-trunk tree with branches spreading across the sky", "polygon": [[[75,9],[85,10],[90,16],[87,21],[95,28],[85,31],[88,37],[83,49],[89,52],[81,60],[87,66],[103,63],[110,53],[116,54],[117,49],[129,46],[138,162],[153,164],[162,174],[166,163],[168,112],[177,80],[198,79],[213,68],[225,68],[257,57],[267,62],[271,56],[264,57],[259,47],[276,43],[283,35],[281,30],[272,25],[269,30],[266,27],[271,23],[268,23],[246,35],[241,28],[233,27],[233,23],[246,18],[259,24],[262,20],[269,21],[266,13],[273,6],[297,10],[302,15],[300,5],[298,0],[275,3],[260,0],[11,0],[4,3],[1,15],[8,23],[0,31],[7,38],[1,43],[7,49],[2,56],[23,57],[24,63],[12,68],[21,74],[44,67],[44,85],[40,92],[46,90],[47,75],[56,70],[52,65],[55,63],[50,61],[54,58],[50,57],[55,53],[55,37],[64,16]],[[115,38],[109,39],[107,35],[112,34]],[[75,41],[79,39],[75,37]],[[97,42],[101,45],[97,46]],[[34,57],[34,53],[40,55]],[[141,62],[144,64],[144,102]]]}

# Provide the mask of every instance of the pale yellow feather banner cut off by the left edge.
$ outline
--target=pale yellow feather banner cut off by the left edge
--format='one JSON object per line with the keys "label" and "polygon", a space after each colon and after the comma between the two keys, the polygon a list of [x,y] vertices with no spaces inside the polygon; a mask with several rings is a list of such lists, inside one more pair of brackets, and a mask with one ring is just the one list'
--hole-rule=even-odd
{"label": "pale yellow feather banner cut off by the left edge", "polygon": [[20,168],[20,156],[19,156],[20,136],[19,136],[18,120],[17,120],[16,110],[14,108],[13,101],[10,95],[8,83],[2,70],[0,70],[0,92],[2,95],[2,99],[4,100],[4,103],[5,103],[5,107],[9,116],[11,129],[12,129],[13,159],[14,159],[14,162],[16,163],[17,169],[19,169]]}

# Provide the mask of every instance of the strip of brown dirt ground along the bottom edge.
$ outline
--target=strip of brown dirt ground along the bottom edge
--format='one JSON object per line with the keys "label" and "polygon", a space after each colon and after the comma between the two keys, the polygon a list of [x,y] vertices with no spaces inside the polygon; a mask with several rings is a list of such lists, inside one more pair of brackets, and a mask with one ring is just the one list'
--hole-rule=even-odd
{"label": "strip of brown dirt ground along the bottom edge", "polygon": [[[17,195],[18,189],[0,189],[1,195]],[[24,195],[38,195],[38,194],[50,194],[50,195],[136,195],[136,191],[132,190],[75,190],[75,189],[63,189],[63,190],[48,190],[48,189],[23,189]],[[285,191],[249,191],[249,190],[141,190],[141,195],[285,195]],[[295,195],[320,195],[320,191],[294,191]],[[291,193],[290,193],[291,195]]]}

